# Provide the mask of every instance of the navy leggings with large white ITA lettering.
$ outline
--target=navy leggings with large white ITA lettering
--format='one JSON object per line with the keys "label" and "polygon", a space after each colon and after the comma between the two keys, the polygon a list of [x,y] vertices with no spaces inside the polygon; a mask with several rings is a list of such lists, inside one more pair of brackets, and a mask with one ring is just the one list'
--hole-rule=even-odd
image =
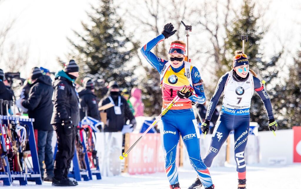
{"label": "navy leggings with large white ITA lettering", "polygon": [[236,171],[239,173],[238,175],[246,172],[244,150],[247,146],[249,130],[250,115],[230,115],[221,112],[212,134],[210,148],[204,158],[205,165],[211,166],[213,158],[221,149],[222,144],[227,140],[230,132],[234,131]]}

